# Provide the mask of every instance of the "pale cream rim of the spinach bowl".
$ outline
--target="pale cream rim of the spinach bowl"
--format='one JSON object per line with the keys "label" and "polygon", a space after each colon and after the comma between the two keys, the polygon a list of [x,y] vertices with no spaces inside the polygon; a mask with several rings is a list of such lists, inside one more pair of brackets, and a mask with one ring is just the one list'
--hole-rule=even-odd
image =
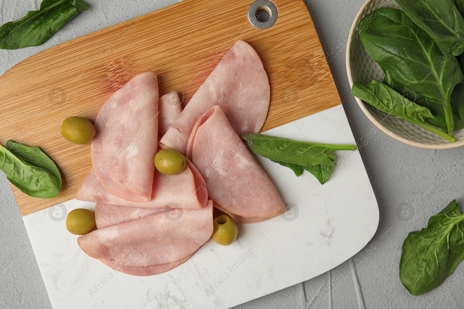
{"label": "pale cream rim of the spinach bowl", "polygon": [[[361,14],[364,12],[364,9],[374,0],[366,0],[364,4],[361,6],[361,9],[359,12],[356,14],[356,17],[354,18],[353,24],[351,25],[351,28],[349,30],[348,34],[348,42],[347,42],[347,50],[346,50],[346,68],[347,68],[347,75],[348,75],[348,82],[350,89],[353,87],[353,75],[351,72],[351,65],[350,65],[350,56],[351,56],[351,41],[354,35],[354,30],[356,29],[356,25],[358,24],[358,21],[360,21]],[[358,33],[359,35],[359,33]],[[354,97],[354,99],[358,102],[359,107],[361,107],[362,112],[367,116],[371,122],[377,126],[380,130],[382,130],[384,133],[386,133],[388,136],[393,137],[393,139],[399,140],[400,142],[403,142],[408,145],[416,146],[419,148],[426,148],[426,149],[451,149],[451,148],[456,148],[464,145],[464,140],[462,141],[455,141],[454,143],[447,143],[447,144],[439,144],[439,145],[431,145],[431,144],[423,144],[419,142],[413,142],[409,139],[406,139],[404,137],[401,137],[397,135],[396,133],[393,133],[390,131],[386,126],[382,125],[379,120],[375,119],[374,116],[370,113],[370,111],[367,109],[365,103],[363,103],[362,100],[360,100],[357,97]],[[383,121],[383,120],[382,120]]]}

